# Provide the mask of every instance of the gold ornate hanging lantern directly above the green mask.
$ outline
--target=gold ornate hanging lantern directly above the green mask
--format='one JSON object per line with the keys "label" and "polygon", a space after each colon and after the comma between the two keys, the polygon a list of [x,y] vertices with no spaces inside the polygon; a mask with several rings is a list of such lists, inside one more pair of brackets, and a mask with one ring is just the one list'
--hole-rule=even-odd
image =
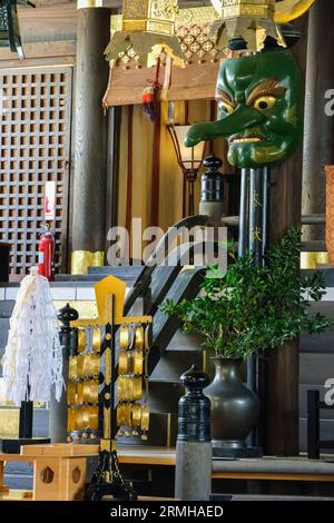
{"label": "gold ornate hanging lantern directly above the green mask", "polygon": [[272,37],[278,46],[285,41],[278,23],[298,18],[315,0],[212,0],[219,20],[213,24],[217,46],[228,47],[229,40],[244,39],[245,49],[261,51]]}

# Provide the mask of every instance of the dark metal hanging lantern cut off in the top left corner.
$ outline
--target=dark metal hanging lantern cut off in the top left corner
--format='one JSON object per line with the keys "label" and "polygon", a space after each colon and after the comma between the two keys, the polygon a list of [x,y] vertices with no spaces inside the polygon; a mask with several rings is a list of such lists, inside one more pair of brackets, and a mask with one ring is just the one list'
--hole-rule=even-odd
{"label": "dark metal hanging lantern cut off in the top left corner", "polygon": [[28,0],[0,0],[0,47],[9,47],[22,60],[24,55],[20,36],[18,3],[35,8],[33,3]]}

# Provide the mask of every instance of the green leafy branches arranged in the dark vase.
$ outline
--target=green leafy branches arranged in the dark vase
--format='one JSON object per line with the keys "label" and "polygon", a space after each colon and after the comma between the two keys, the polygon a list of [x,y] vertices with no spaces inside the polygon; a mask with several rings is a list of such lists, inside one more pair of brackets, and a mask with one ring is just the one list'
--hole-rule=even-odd
{"label": "green leafy branches arranged in the dark vase", "polygon": [[296,338],[332,326],[325,316],[311,314],[310,299],[325,294],[321,273],[299,275],[301,228],[289,229],[268,251],[265,264],[254,256],[235,259],[224,277],[207,269],[203,293],[161,310],[178,316],[186,333],[198,334],[203,345],[225,358],[246,359]]}

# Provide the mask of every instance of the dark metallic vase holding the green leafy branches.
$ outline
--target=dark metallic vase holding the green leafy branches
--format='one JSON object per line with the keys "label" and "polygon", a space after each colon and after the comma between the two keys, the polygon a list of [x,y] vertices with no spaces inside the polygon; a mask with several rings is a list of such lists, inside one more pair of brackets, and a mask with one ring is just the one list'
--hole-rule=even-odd
{"label": "dark metallic vase holding the green leafy branches", "polygon": [[216,375],[204,389],[212,402],[212,438],[216,448],[243,450],[259,413],[259,399],[242,381],[242,359],[212,358]]}

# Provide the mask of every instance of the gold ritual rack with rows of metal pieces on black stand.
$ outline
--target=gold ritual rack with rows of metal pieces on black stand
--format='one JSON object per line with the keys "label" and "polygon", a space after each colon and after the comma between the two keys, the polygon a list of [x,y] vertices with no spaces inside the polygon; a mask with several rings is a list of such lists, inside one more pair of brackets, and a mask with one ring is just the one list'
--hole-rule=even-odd
{"label": "gold ritual rack with rows of metal pieces on black stand", "polygon": [[68,442],[99,440],[87,500],[135,500],[118,467],[116,436],[147,438],[151,316],[124,317],[126,285],[109,276],[96,285],[98,317],[71,322],[77,344],[69,358]]}

